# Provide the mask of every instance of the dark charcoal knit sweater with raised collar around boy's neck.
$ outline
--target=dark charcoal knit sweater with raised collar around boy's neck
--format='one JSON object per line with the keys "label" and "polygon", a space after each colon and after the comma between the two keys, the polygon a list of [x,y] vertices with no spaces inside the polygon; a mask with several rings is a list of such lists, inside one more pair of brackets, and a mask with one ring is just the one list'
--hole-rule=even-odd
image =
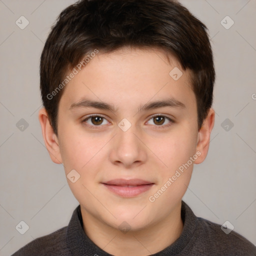
{"label": "dark charcoal knit sweater with raised collar around boy's neck", "polygon": [[[195,216],[183,200],[181,202],[181,219],[183,229],[180,236],[163,250],[151,255],[256,255],[256,247],[250,241],[234,231],[226,234],[221,230],[219,224]],[[99,248],[86,235],[83,230],[80,205],[78,205],[67,226],[34,239],[12,254],[12,256],[24,255],[109,256],[111,254]]]}

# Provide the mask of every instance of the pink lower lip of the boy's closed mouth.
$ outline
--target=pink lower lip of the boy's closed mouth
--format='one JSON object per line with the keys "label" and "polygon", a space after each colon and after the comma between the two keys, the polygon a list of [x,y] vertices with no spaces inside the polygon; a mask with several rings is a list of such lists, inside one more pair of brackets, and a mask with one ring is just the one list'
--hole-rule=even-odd
{"label": "pink lower lip of the boy's closed mouth", "polygon": [[151,188],[153,184],[145,184],[138,186],[118,186],[108,184],[103,185],[105,185],[110,191],[117,195],[120,195],[122,197],[133,197],[147,191],[148,189]]}

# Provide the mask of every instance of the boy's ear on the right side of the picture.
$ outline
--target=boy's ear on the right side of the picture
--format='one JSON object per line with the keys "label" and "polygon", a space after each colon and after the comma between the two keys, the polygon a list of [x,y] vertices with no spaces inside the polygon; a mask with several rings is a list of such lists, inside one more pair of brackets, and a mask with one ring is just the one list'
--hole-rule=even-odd
{"label": "boy's ear on the right side of the picture", "polygon": [[212,108],[210,108],[207,117],[204,119],[203,124],[200,130],[198,131],[196,152],[199,151],[201,152],[201,154],[197,157],[194,163],[201,163],[208,153],[210,143],[210,132],[214,125],[214,119],[215,112]]}

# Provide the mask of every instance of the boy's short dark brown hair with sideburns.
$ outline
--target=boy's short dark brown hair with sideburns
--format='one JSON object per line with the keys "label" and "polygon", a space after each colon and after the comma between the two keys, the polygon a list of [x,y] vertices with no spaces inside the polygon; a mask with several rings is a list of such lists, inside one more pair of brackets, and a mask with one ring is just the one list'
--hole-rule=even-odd
{"label": "boy's short dark brown hair with sideburns", "polygon": [[161,48],[192,71],[200,129],[215,80],[206,26],[174,0],[79,0],[59,14],[40,59],[41,97],[55,134],[64,90],[58,85],[67,71],[95,49],[109,52],[123,46]]}

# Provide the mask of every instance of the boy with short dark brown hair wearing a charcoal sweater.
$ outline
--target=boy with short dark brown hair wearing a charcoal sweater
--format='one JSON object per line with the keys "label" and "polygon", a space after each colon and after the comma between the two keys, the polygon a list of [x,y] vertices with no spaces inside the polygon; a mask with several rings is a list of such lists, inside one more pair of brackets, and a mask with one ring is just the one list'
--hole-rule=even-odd
{"label": "boy with short dark brown hair wearing a charcoal sweater", "polygon": [[13,255],[256,255],[182,201],[214,124],[206,27],[171,0],[81,0],[44,46],[39,111],[79,206]]}

